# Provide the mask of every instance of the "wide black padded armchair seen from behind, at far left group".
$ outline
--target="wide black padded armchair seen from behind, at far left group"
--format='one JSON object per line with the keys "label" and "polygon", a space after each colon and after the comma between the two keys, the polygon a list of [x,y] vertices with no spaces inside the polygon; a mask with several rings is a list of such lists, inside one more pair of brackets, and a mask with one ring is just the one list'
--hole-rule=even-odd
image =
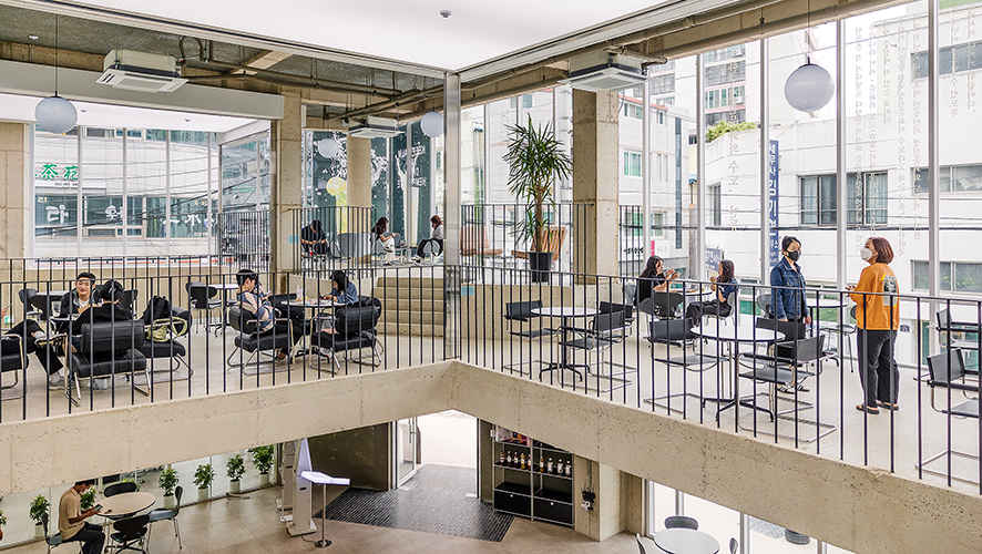
{"label": "wide black padded armchair seen from behind, at far left group", "polygon": [[[127,376],[133,383],[133,390],[150,396],[146,390],[133,382],[137,371],[143,371],[144,375],[146,371],[146,358],[140,353],[140,347],[143,346],[145,338],[142,319],[82,325],[79,351],[68,356],[68,372],[74,375],[75,379],[65,379],[67,382],[74,382],[79,400],[82,398],[79,378],[112,379],[117,375]],[[146,377],[149,381],[150,376]],[[79,406],[79,400],[71,396],[69,386],[65,387],[65,396]]]}

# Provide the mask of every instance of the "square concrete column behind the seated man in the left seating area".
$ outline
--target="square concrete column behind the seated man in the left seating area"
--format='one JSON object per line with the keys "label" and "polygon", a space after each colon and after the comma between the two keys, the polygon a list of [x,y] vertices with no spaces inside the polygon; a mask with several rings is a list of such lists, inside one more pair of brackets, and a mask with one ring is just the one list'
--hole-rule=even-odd
{"label": "square concrete column behind the seated man in the left seating area", "polygon": [[[294,209],[303,204],[303,115],[299,92],[283,92],[283,119],[274,121],[269,130],[269,155],[274,172],[269,195],[269,232],[272,268],[274,271],[296,270],[299,255],[296,237],[301,222],[294,220]],[[286,293],[289,283],[286,275],[277,276],[277,293]]]}

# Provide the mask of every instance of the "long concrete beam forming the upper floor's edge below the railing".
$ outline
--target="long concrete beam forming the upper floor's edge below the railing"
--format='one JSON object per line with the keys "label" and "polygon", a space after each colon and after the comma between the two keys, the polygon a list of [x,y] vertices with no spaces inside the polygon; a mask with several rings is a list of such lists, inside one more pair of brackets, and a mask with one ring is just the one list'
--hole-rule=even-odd
{"label": "long concrete beam forming the upper floor's edge below the railing", "polygon": [[2,423],[0,493],[447,409],[596,461],[622,491],[616,513],[601,496],[597,537],[632,529],[649,479],[859,554],[982,552],[982,495],[461,362]]}

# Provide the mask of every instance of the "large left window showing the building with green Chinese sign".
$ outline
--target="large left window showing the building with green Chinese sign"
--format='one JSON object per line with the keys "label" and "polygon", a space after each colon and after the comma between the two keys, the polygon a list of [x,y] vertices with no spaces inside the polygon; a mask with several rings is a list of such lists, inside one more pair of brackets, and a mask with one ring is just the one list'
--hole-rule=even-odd
{"label": "large left window showing the building with green Chinese sign", "polygon": [[214,135],[182,131],[168,141],[168,134],[90,126],[53,135],[34,129],[31,255],[207,253],[207,198],[217,183]]}

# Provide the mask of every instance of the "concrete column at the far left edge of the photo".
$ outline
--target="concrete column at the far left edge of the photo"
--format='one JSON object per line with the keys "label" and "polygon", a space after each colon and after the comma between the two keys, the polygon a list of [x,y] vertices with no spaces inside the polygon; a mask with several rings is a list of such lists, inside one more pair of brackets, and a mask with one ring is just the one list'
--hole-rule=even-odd
{"label": "concrete column at the far left edge of the photo", "polygon": [[22,258],[28,254],[30,140],[28,125],[0,123],[0,228],[7,234],[0,242],[2,258]]}

